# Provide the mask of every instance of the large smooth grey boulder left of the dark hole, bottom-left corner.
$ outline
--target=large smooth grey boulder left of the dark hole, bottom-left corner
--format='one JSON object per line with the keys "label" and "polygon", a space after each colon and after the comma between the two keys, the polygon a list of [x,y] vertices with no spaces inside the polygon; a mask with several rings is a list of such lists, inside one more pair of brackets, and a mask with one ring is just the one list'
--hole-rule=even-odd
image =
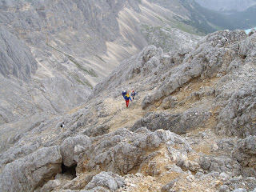
{"label": "large smooth grey boulder left of the dark hole, bottom-left corner", "polygon": [[33,191],[62,171],[59,146],[41,148],[7,164],[0,174],[2,191]]}

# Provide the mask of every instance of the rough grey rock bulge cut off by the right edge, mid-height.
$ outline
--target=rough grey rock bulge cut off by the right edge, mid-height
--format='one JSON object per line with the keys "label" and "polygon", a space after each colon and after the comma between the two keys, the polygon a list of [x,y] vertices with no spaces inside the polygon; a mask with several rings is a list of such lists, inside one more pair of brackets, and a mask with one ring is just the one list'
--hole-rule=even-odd
{"label": "rough grey rock bulge cut off by the right edge, mid-height", "polygon": [[219,115],[217,130],[228,135],[237,135],[245,138],[249,135],[256,135],[256,85],[250,82],[250,86],[234,93],[226,107]]}

